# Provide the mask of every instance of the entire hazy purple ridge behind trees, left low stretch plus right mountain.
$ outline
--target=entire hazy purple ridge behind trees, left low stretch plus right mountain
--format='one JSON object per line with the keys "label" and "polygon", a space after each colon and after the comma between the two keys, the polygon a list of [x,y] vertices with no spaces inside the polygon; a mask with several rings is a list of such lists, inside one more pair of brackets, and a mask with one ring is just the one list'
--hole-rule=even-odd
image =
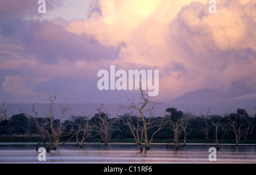
{"label": "entire hazy purple ridge behind trees, left low stretch plus right mountain", "polygon": [[[68,104],[57,103],[53,107],[55,110],[56,118],[60,116],[61,106],[67,106]],[[69,119],[71,115],[82,115],[86,109],[86,115],[93,116],[97,113],[96,108],[100,107],[101,103],[74,103],[69,105],[71,107],[71,113],[65,115],[65,119]],[[129,103],[122,103],[122,106],[129,106]],[[125,114],[127,111],[123,111],[119,108],[121,103],[108,103],[104,104],[103,110],[108,109],[109,114],[112,116]],[[235,113],[238,108],[246,109],[247,112],[254,116],[256,107],[256,94],[246,94],[241,97],[229,98],[224,93],[218,92],[214,89],[201,89],[197,91],[191,91],[172,101],[164,102],[163,105],[159,105],[155,110],[155,116],[164,116],[168,107],[175,107],[181,111],[189,111],[195,115],[199,115],[199,111],[206,112],[209,107],[212,109],[212,115],[224,115],[229,113]],[[46,116],[48,111],[48,104],[37,104],[35,110],[38,111],[40,116]],[[9,111],[9,116],[19,113],[32,113],[32,104],[14,104]]]}

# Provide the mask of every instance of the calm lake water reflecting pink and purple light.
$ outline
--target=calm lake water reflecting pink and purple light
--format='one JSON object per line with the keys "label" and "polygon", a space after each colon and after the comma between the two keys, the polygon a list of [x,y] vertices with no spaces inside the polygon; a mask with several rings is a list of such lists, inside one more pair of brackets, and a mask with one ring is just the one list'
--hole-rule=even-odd
{"label": "calm lake water reflecting pink and purple light", "polygon": [[[74,144],[58,147],[58,151],[46,154],[46,162],[39,162],[35,143],[0,143],[0,163],[209,163],[209,148],[214,145],[180,145],[174,151],[165,144],[151,145],[150,151],[139,152],[134,144],[85,144],[76,149]],[[256,145],[223,145],[214,163],[254,163],[256,164]]]}

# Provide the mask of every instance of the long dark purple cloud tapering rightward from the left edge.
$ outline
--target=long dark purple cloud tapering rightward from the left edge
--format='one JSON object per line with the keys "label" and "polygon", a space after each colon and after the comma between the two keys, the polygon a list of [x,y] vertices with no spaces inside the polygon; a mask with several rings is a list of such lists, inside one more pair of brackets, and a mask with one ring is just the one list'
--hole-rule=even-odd
{"label": "long dark purple cloud tapering rightward from the left edge", "polygon": [[104,47],[96,40],[79,37],[51,22],[39,20],[3,20],[0,35],[5,44],[20,45],[41,62],[59,63],[60,59],[116,59],[118,48]]}

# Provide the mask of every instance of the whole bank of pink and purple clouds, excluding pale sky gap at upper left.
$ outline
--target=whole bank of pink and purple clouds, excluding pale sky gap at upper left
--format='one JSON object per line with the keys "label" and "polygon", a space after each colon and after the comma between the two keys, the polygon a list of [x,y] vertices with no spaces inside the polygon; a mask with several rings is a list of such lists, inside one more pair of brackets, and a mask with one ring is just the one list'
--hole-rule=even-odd
{"label": "whole bank of pink and purple clouds, excluding pale sky gap at upper left", "polygon": [[[2,3],[7,6],[7,1]],[[15,3],[8,6],[13,9],[9,17],[34,8],[30,4],[15,12]],[[94,0],[86,20],[5,19],[0,24],[0,57],[15,57],[2,61],[6,67],[0,69],[6,76],[15,70],[69,81],[81,77],[97,81],[97,71],[110,65],[159,69],[159,101],[203,88],[228,91],[232,82],[246,78],[253,91],[255,2],[220,0],[216,14],[209,14],[208,8],[205,0]]]}

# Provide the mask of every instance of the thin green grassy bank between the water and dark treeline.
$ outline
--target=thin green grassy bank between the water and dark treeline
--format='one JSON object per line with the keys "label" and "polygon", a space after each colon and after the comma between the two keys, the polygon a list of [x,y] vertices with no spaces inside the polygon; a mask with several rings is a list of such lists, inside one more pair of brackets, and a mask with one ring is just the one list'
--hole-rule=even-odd
{"label": "thin green grassy bank between the water and dark treeline", "polygon": [[[61,142],[64,142],[67,140],[61,140]],[[35,143],[40,143],[42,142],[42,139],[39,136],[30,136],[29,138],[27,136],[13,136],[12,138],[10,138],[7,135],[1,135],[0,136],[0,143],[10,143],[10,142],[35,142]],[[76,140],[71,140],[70,142],[76,142]],[[134,143],[134,139],[112,139],[112,141],[110,141],[110,143]],[[101,143],[101,139],[90,139],[90,140],[86,140],[85,143]],[[161,140],[161,139],[155,139],[152,143],[173,143],[172,139],[168,139],[168,140]],[[179,140],[180,144],[183,144],[183,140]],[[195,143],[195,144],[207,144],[207,142],[205,140],[199,140],[199,139],[187,139],[187,143]],[[210,140],[211,144],[214,144],[214,140]],[[235,140],[224,140],[223,144],[236,144]],[[240,144],[256,144],[256,140],[247,140],[247,141],[240,141]]]}

